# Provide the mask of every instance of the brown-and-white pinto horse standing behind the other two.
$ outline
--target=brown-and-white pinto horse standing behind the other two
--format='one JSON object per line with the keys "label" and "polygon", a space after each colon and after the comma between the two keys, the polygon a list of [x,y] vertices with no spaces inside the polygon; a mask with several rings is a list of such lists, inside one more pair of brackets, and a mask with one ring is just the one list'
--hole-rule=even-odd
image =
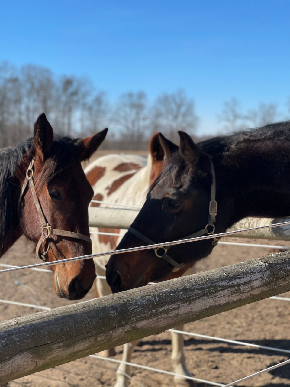
{"label": "brown-and-white pinto horse standing behind the other two", "polygon": [[[146,194],[150,185],[159,176],[164,162],[164,150],[160,144],[159,135],[156,134],[150,141],[150,153],[147,158],[136,155],[107,155],[103,156],[85,168],[85,174],[90,184],[94,189],[94,200],[103,202],[129,204],[135,206],[142,206],[146,199]],[[100,203],[91,202],[91,207],[99,207]],[[106,206],[106,205],[105,205]],[[104,207],[104,205],[102,205]],[[119,207],[118,207],[119,208]],[[112,210],[113,211],[113,210]],[[106,228],[91,228],[91,231],[109,232],[109,233],[124,233],[126,230],[106,229]],[[92,251],[93,253],[106,252],[113,250],[121,241],[122,236],[114,235],[97,235],[92,233]],[[105,296],[112,293],[110,286],[105,279],[98,276],[106,275],[105,265],[109,260],[109,256],[94,258],[96,265],[96,286],[99,296]],[[173,274],[173,276],[172,276]],[[168,278],[177,276],[177,273],[172,273]],[[186,271],[184,268],[181,274],[192,274],[191,269]],[[177,327],[180,329],[181,327]],[[185,357],[183,354],[183,336],[175,332],[171,332],[172,336],[172,362],[174,365],[174,372],[182,375],[190,375],[185,365]],[[122,360],[126,362],[131,361],[131,356],[135,345],[138,341],[127,343],[123,346]],[[114,348],[102,351],[102,356],[113,356],[115,354]],[[127,387],[128,378],[124,372],[130,375],[130,366],[120,364],[116,374],[115,387]],[[179,378],[181,379],[181,378]],[[182,378],[182,381],[184,378]],[[176,385],[184,385],[177,383]]]}

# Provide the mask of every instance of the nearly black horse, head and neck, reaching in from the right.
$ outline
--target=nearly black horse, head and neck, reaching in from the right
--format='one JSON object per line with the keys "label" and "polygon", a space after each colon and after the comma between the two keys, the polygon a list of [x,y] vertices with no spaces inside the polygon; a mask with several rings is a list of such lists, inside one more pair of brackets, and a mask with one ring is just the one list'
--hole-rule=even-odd
{"label": "nearly black horse, head and neck, reaching in from the right", "polygon": [[[127,232],[116,249],[150,244],[144,242],[146,238],[161,243],[199,231],[206,234],[213,231],[209,219],[214,232],[220,233],[247,216],[290,214],[289,121],[199,144],[184,132],[179,135],[177,147],[160,134],[166,155],[164,168],[132,224],[133,233]],[[216,219],[215,205],[209,210],[212,188]],[[177,267],[165,260],[161,248],[159,257],[153,249],[113,255],[107,264],[107,281],[112,291],[118,292],[168,278],[172,270],[179,270],[172,273],[179,275],[184,267],[209,255],[214,245],[208,239],[169,247],[167,255]]]}

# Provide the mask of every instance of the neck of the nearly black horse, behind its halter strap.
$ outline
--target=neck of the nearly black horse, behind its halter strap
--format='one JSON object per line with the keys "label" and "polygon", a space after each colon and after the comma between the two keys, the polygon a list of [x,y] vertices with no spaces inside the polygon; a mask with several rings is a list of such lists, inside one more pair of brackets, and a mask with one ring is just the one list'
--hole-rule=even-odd
{"label": "neck of the nearly black horse, behind its halter strap", "polygon": [[213,155],[225,226],[247,216],[290,214],[289,148],[287,141],[261,140]]}

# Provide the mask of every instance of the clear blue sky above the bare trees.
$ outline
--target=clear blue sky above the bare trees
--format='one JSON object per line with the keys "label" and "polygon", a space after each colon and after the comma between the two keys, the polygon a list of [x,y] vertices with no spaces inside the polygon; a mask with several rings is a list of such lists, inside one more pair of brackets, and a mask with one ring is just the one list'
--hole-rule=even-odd
{"label": "clear blue sky above the bare trees", "polygon": [[184,88],[213,134],[232,97],[287,112],[289,16],[288,0],[2,1],[0,61],[87,75],[112,100]]}

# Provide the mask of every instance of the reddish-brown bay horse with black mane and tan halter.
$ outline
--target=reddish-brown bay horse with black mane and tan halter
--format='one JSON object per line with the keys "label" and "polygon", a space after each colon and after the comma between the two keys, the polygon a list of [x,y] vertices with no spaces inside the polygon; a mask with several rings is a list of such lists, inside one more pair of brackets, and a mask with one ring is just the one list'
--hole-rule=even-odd
{"label": "reddish-brown bay horse with black mane and tan halter", "polygon": [[[107,129],[84,140],[54,138],[43,113],[33,138],[0,150],[0,257],[22,234],[46,261],[92,253],[88,205],[93,190],[81,162],[106,134]],[[92,259],[50,268],[56,294],[68,300],[83,298],[96,278]]]}

